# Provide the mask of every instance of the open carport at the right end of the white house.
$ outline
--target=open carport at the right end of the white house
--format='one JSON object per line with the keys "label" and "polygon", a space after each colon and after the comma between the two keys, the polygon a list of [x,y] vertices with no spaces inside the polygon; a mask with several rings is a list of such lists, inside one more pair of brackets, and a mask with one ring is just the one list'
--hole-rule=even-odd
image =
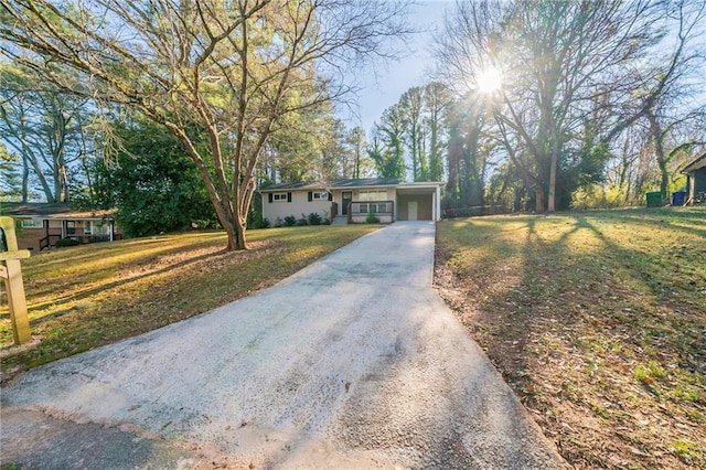
{"label": "open carport at the right end of the white house", "polygon": [[396,221],[439,221],[441,185],[439,182],[402,183],[395,201]]}

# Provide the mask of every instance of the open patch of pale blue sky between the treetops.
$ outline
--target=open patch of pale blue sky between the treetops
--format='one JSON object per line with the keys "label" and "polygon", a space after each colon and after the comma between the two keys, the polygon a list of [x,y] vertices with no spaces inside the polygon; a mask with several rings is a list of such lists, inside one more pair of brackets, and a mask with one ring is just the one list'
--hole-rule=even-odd
{"label": "open patch of pale blue sky between the treetops", "polygon": [[410,52],[406,57],[391,64],[376,64],[377,76],[371,72],[359,83],[363,89],[359,93],[357,109],[354,109],[357,116],[351,116],[346,109],[340,111],[349,128],[361,126],[370,133],[373,124],[379,121],[383,111],[397,103],[403,93],[428,81],[434,67],[429,50],[432,31],[441,26],[445,10],[452,9],[453,6],[451,0],[436,0],[419,1],[411,7],[409,22],[426,31],[411,38],[408,43]]}

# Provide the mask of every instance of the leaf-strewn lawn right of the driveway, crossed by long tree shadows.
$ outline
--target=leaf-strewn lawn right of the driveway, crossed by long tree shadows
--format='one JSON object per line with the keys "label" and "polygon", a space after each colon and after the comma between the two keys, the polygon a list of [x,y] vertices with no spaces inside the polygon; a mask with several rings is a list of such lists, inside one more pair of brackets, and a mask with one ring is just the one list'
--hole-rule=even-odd
{"label": "leaf-strewn lawn right of the driveway, crossed by long tree shadows", "polygon": [[706,468],[706,207],[447,221],[437,254],[570,463]]}

